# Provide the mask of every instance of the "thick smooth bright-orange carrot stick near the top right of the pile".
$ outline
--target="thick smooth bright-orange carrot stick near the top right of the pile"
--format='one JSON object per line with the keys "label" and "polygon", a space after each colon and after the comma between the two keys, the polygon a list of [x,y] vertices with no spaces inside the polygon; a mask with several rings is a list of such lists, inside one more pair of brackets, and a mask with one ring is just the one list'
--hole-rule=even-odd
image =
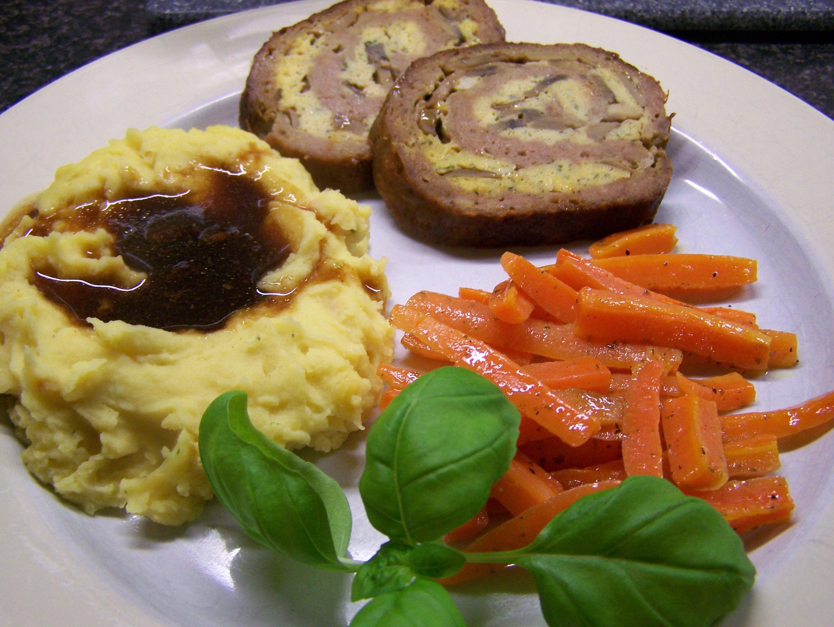
{"label": "thick smooth bright-orange carrot stick near the top right of the pile", "polygon": [[717,316],[643,296],[580,291],[575,330],[595,340],[672,346],[733,367],[764,370],[771,338]]}

